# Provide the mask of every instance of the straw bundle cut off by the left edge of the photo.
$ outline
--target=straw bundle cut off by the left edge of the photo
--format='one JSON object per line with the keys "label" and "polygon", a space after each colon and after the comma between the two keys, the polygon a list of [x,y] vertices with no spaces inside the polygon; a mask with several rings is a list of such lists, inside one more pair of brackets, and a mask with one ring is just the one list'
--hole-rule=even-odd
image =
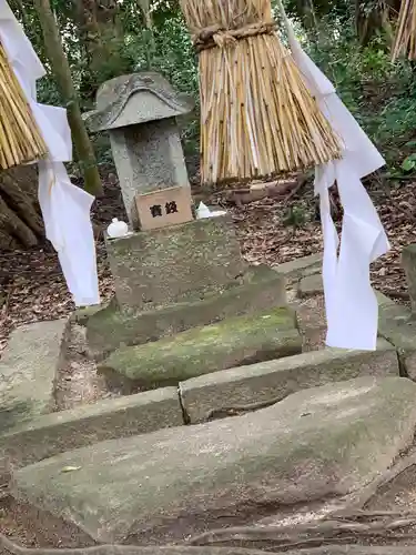
{"label": "straw bundle cut off by the left edge of the photo", "polygon": [[47,145],[0,42],[0,170],[43,158]]}

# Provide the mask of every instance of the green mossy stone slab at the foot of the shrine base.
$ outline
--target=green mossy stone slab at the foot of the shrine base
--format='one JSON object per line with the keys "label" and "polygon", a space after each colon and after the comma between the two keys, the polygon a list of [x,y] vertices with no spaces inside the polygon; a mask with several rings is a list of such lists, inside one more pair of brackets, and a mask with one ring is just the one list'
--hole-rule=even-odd
{"label": "green mossy stone slab at the foot of the shrine base", "polygon": [[177,383],[301,351],[302,337],[295,327],[295,313],[282,307],[118,349],[102,362],[99,372],[113,385],[129,392],[138,385]]}

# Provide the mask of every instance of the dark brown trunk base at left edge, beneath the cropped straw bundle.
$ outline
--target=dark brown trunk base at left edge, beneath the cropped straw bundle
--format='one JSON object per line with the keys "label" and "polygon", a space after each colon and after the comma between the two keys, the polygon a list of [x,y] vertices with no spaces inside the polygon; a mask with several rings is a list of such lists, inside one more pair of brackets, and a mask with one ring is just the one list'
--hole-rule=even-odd
{"label": "dark brown trunk base at left edge, beneath the cropped straw bundle", "polygon": [[35,246],[44,239],[34,167],[0,173],[0,249]]}

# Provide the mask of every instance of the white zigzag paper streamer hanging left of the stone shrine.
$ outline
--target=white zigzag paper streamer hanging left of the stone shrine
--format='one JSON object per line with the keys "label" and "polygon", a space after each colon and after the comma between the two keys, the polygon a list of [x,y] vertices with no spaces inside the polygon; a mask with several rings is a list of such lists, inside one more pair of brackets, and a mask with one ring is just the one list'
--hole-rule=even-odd
{"label": "white zigzag paper streamer hanging left of the stone shrine", "polygon": [[68,176],[63,162],[72,160],[72,144],[67,111],[37,102],[35,83],[45,71],[6,0],[0,0],[0,40],[49,151],[48,160],[39,161],[39,202],[47,238],[58,252],[75,305],[99,304],[90,220],[94,198],[74,186]]}

